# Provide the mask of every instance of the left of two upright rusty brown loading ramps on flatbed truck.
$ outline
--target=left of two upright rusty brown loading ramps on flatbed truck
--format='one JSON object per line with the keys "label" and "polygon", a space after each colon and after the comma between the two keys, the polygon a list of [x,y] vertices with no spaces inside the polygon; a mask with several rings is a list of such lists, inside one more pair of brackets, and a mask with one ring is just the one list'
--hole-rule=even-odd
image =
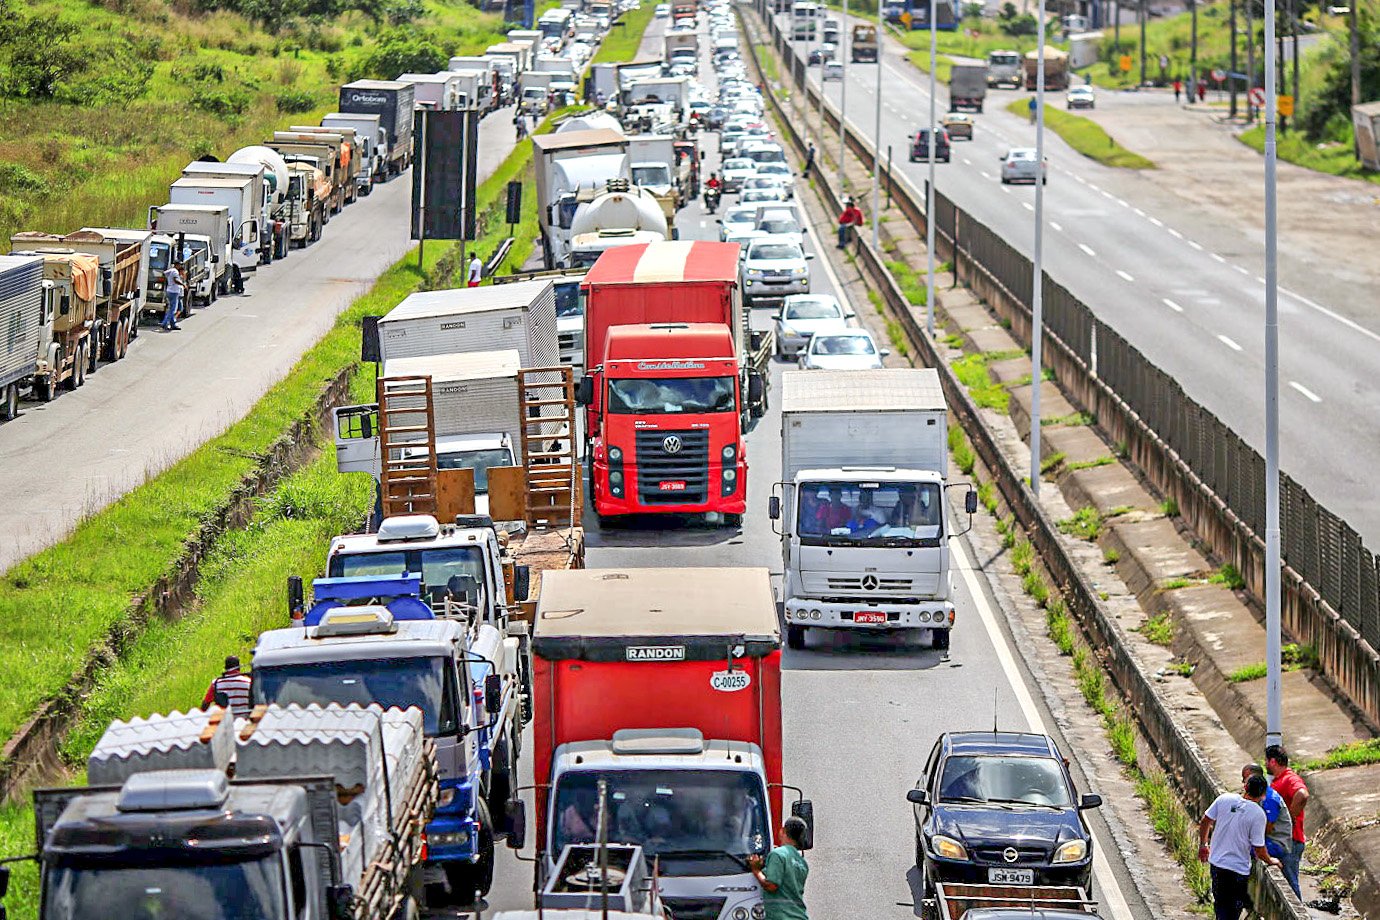
{"label": "left of two upright rusty brown loading ramps on flatbed truck", "polygon": [[431,377],[378,378],[378,440],[384,517],[435,514],[436,419]]}

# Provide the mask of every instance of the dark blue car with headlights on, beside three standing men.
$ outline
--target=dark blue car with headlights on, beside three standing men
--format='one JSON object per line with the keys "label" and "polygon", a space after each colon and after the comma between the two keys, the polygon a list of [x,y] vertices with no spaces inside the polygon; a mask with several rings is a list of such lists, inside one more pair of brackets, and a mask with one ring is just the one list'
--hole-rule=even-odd
{"label": "dark blue car with headlights on, beside three standing men", "polygon": [[1068,766],[1046,735],[948,732],[905,794],[915,807],[915,865],[934,883],[1078,886],[1090,892],[1093,834]]}

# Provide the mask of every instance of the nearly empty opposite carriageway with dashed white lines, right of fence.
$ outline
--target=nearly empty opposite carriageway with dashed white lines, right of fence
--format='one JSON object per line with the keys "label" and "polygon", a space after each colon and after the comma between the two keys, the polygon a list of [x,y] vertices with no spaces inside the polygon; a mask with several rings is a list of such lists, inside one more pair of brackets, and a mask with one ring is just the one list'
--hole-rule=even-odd
{"label": "nearly empty opposite carriageway with dashed white lines, right of fence", "polygon": [[[805,52],[809,43],[796,43]],[[908,137],[929,123],[929,77],[883,41],[882,139],[896,171],[923,193],[926,163],[908,161]],[[847,121],[875,132],[878,65],[847,63]],[[810,69],[818,80],[818,68]],[[843,88],[825,84],[838,106]],[[1144,105],[1137,94],[1098,91],[1098,103]],[[1035,130],[1005,112],[1027,94],[994,90],[977,116],[972,142],[954,143],[952,161],[936,167],[936,188],[1029,255],[1034,251],[1034,189],[1003,186],[1000,154],[1034,146]],[[937,94],[937,112],[948,94]],[[1050,94],[1064,108],[1063,94]],[[1132,170],[1100,166],[1046,131],[1045,270],[1093,308],[1097,317],[1173,375],[1249,444],[1264,446],[1264,243],[1252,229],[1263,204],[1242,203],[1241,221],[1224,223],[1185,207]],[[1143,150],[1154,157],[1154,150]],[[1263,193],[1261,193],[1263,194]],[[1281,207],[1292,201],[1281,188]],[[869,210],[864,200],[862,208]],[[1380,495],[1363,458],[1380,451],[1374,418],[1380,397],[1380,316],[1376,291],[1344,270],[1290,254],[1281,241],[1281,455],[1286,473],[1321,503],[1380,546]]]}

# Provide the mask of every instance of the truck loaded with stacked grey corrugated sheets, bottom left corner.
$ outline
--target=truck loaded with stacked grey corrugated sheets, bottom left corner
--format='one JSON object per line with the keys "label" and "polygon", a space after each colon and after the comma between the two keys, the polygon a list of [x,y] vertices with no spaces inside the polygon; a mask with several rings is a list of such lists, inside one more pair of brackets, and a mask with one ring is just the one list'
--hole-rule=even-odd
{"label": "truck loaded with stacked grey corrugated sheets, bottom left corner", "polygon": [[439,796],[422,721],[328,705],[110,723],[91,785],[34,792],[39,917],[415,916]]}

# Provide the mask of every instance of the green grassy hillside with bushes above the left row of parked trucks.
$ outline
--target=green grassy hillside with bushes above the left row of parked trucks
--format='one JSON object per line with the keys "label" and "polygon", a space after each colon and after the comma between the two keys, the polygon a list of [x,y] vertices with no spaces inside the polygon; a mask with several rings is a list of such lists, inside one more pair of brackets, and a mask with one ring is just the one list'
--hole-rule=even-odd
{"label": "green grassy hillside with bushes above the left row of parked trucks", "polygon": [[0,0],[0,240],[142,226],[189,160],[504,28],[462,0]]}

